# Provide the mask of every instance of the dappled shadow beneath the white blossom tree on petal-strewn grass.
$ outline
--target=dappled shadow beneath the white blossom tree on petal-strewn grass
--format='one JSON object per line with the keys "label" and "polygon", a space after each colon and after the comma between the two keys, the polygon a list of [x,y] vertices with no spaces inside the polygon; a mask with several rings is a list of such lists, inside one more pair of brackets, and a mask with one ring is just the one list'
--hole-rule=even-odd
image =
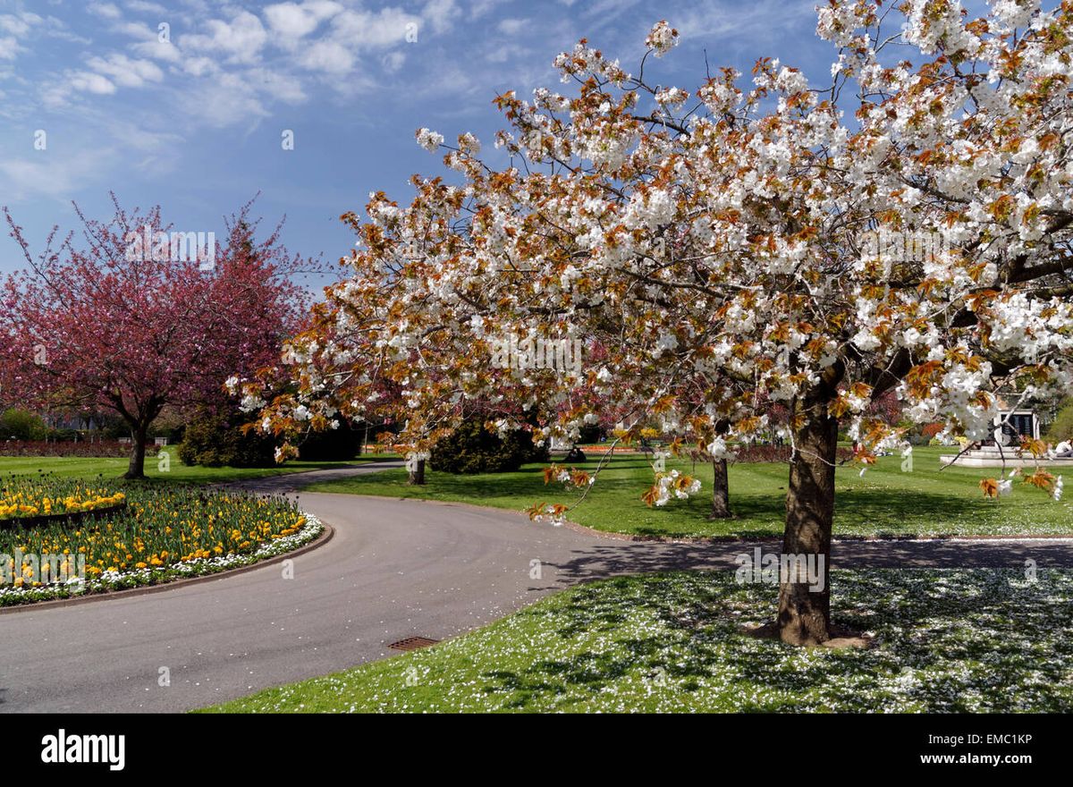
{"label": "dappled shadow beneath the white blossom tree on petal-strewn grass", "polygon": [[[612,580],[577,588],[565,608],[520,613],[541,618],[534,623],[560,646],[598,635],[599,652],[483,677],[513,710],[569,710],[632,676],[670,706],[690,706],[700,688],[716,693],[718,706],[694,710],[1070,712],[1073,616],[1069,601],[1056,609],[1048,594],[1069,598],[1073,573],[1049,573],[1041,580],[1048,592],[1016,579],[994,570],[846,572],[836,579],[836,622],[869,628],[877,644],[807,653],[743,632],[743,620],[774,612],[775,588],[703,573]],[[636,636],[638,621],[650,635]]]}

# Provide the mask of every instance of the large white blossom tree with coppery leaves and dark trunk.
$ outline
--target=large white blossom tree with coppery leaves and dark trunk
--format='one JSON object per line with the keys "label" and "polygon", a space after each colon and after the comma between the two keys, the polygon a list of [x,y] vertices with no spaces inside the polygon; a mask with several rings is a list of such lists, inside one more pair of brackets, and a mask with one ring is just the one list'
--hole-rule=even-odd
{"label": "large white blossom tree with coppery leaves and dark trunk", "polygon": [[[822,556],[826,574],[840,425],[867,466],[902,438],[866,412],[888,392],[910,420],[975,440],[997,388],[1070,389],[1073,5],[1001,0],[970,20],[952,0],[831,0],[818,32],[838,49],[823,86],[765,59],[751,84],[724,69],[655,88],[666,23],[636,75],[583,40],[556,59],[570,94],[497,99],[498,167],[470,134],[418,131],[461,185],[415,178],[409,206],[378,193],[367,221],[351,216],[352,276],[296,337],[300,393],[266,425],[293,428],[296,407],[361,413],[388,381],[417,447],[467,400],[540,400],[557,413],[540,437],[611,406],[618,437],[657,418],[718,460],[779,403],[783,552]],[[495,367],[510,333],[580,337],[590,354],[578,374]],[[649,495],[695,486],[664,478]],[[832,638],[824,579],[782,577],[784,641]]]}

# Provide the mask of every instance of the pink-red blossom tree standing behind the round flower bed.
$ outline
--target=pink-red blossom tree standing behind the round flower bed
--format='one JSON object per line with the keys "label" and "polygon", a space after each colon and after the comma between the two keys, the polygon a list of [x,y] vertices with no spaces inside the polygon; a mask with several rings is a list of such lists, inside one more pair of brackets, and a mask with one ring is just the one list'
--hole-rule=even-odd
{"label": "pink-red blossom tree standing behind the round flower bed", "polygon": [[289,276],[305,261],[279,245],[279,228],[254,239],[250,204],[195,259],[158,248],[157,233],[171,229],[160,207],[128,214],[114,194],[113,204],[107,222],[75,206],[85,243],[72,233],[55,246],[54,228],[36,257],[4,208],[28,267],[0,289],[0,384],[41,409],[118,413],[133,437],[126,478],[143,478],[146,437],[165,407],[216,406],[229,377],[278,358],[281,337],[300,326],[303,291]]}

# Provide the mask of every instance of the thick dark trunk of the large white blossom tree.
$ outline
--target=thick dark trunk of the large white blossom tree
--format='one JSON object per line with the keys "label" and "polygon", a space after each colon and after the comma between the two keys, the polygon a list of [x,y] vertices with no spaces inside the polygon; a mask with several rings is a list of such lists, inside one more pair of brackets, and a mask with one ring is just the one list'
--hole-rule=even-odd
{"label": "thick dark trunk of the large white blossom tree", "polygon": [[808,565],[815,569],[822,583],[813,586],[797,571],[780,575],[776,626],[783,642],[819,645],[832,637],[831,530],[835,515],[838,419],[827,412],[826,396],[822,393],[798,399],[793,412],[799,419],[799,426],[794,429],[796,452],[790,465],[782,553],[813,560]]}

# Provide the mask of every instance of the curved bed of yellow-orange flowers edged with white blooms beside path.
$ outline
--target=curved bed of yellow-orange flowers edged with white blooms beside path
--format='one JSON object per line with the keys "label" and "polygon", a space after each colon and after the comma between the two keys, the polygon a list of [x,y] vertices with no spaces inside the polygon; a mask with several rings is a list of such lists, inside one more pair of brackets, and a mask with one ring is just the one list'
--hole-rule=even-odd
{"label": "curved bed of yellow-orange flowers edged with white blooms beside path", "polygon": [[133,485],[126,497],[126,509],[92,522],[0,530],[0,607],[216,573],[324,529],[282,497]]}

